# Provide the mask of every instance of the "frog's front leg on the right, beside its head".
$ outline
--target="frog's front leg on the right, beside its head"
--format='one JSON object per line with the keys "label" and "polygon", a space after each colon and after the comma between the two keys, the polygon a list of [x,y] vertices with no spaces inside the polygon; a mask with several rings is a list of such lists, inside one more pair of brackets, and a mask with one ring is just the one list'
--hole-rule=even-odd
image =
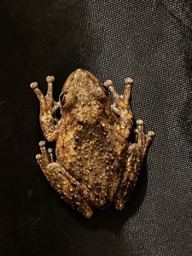
{"label": "frog's front leg on the right, beside its head", "polygon": [[107,80],[104,85],[108,87],[110,92],[112,93],[115,108],[112,106],[113,112],[119,116],[118,126],[121,135],[125,138],[129,137],[132,131],[132,111],[130,104],[130,96],[131,96],[131,85],[133,84],[133,80],[131,78],[125,79],[125,92],[123,96],[119,96],[118,92],[113,87],[113,82],[111,80]]}

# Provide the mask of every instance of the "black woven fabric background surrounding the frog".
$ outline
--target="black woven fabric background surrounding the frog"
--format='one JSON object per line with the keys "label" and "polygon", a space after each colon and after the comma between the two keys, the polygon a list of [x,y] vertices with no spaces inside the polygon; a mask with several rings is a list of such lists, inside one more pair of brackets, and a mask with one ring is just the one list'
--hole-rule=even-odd
{"label": "black woven fabric background surrounding the frog", "polygon": [[[1,255],[192,255],[191,1],[3,0],[0,92]],[[135,119],[156,137],[123,212],[91,219],[51,189],[35,155],[43,139],[29,88],[69,73],[125,77]]]}

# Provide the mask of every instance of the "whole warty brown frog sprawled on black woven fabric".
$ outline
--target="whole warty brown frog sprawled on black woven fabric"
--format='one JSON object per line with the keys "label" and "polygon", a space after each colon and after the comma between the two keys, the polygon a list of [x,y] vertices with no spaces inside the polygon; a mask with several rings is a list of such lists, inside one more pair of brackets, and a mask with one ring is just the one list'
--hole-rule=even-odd
{"label": "whole warty brown frog sprawled on black woven fabric", "polygon": [[125,79],[121,96],[111,80],[102,84],[79,68],[68,76],[58,102],[53,98],[55,78],[49,76],[46,81],[45,96],[37,82],[30,84],[40,102],[44,137],[55,142],[55,148],[47,148],[45,141],[39,143],[41,153],[36,159],[44,176],[61,199],[85,218],[111,204],[123,210],[154,137],[154,131],[144,133],[142,119],[137,119],[133,129],[133,79]]}

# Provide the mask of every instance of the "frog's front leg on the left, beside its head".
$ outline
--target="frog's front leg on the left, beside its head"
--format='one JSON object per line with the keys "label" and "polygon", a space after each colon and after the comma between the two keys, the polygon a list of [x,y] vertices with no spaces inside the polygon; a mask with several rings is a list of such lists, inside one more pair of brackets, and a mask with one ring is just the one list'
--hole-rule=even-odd
{"label": "frog's front leg on the left, beside its head", "polygon": [[30,84],[30,87],[36,95],[38,96],[38,100],[40,102],[40,125],[41,129],[44,133],[44,137],[49,141],[55,141],[57,137],[57,133],[55,130],[55,111],[59,108],[59,102],[55,102],[53,99],[53,82],[54,77],[47,77],[48,90],[47,95],[44,96],[42,91],[38,88],[38,83],[34,82]]}

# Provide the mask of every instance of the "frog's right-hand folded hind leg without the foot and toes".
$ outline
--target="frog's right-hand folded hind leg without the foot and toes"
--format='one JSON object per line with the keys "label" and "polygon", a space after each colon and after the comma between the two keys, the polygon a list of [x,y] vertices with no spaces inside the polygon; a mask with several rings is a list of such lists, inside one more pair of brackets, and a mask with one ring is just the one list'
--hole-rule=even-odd
{"label": "frog's right-hand folded hind leg without the foot and toes", "polygon": [[121,179],[118,193],[114,200],[116,209],[123,210],[125,202],[131,194],[131,189],[137,183],[138,172],[143,160],[142,147],[136,143],[129,146],[129,158],[126,163],[125,172]]}

